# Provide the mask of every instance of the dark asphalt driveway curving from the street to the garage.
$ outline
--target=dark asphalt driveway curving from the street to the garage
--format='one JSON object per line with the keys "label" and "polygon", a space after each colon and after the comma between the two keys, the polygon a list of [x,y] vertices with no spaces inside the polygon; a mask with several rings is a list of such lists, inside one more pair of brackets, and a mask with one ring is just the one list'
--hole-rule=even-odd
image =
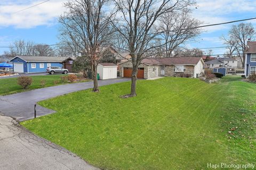
{"label": "dark asphalt driveway curving from the street to the garage", "polygon": [[[114,84],[118,82],[130,81],[128,78],[117,78],[109,80],[99,80],[99,86]],[[41,100],[65,95],[70,92],[90,89],[93,82],[82,82],[64,84],[60,86],[36,89],[18,94],[0,96],[0,115],[11,116],[18,121],[25,121],[34,118],[34,105]],[[37,116],[54,113],[50,109],[37,105]]]}

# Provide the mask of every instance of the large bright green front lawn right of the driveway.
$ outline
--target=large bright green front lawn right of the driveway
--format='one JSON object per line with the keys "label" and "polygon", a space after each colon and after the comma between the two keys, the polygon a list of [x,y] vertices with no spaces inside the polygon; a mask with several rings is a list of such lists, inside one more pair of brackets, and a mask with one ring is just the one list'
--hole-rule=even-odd
{"label": "large bright green front lawn right of the driveway", "polygon": [[137,86],[134,98],[119,98],[130,90],[124,82],[45,100],[57,113],[21,124],[103,169],[255,163],[256,84],[163,78]]}

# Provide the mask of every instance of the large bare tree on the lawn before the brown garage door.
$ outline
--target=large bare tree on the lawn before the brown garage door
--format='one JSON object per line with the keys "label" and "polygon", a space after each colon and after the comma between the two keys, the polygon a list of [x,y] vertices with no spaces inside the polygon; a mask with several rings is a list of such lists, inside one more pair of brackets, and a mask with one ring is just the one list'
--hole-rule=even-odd
{"label": "large bare tree on the lawn before the brown garage door", "polygon": [[114,0],[116,5],[116,20],[112,21],[113,27],[118,31],[127,45],[131,55],[132,78],[131,93],[126,97],[136,94],[138,66],[147,52],[154,48],[153,40],[159,33],[154,32],[154,25],[163,14],[182,10],[194,1],[190,0]]}

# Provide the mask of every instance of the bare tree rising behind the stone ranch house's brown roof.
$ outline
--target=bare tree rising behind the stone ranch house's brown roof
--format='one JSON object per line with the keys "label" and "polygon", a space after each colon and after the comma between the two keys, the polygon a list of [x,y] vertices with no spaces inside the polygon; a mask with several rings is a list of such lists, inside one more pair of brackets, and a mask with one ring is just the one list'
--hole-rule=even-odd
{"label": "bare tree rising behind the stone ranch house's brown roof", "polygon": [[157,30],[162,31],[161,36],[164,39],[164,51],[166,57],[173,55],[173,50],[188,40],[193,40],[201,33],[196,28],[203,22],[192,18],[191,11],[175,11],[163,14],[159,18]]}

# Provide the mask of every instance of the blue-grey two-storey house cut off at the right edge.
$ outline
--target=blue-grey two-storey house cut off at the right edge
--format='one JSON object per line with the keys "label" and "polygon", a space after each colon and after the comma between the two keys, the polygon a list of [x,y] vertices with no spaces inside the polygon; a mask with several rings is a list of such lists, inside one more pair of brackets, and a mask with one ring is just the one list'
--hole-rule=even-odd
{"label": "blue-grey two-storey house cut off at the right edge", "polygon": [[247,41],[244,74],[249,77],[253,73],[256,73],[256,41]]}

